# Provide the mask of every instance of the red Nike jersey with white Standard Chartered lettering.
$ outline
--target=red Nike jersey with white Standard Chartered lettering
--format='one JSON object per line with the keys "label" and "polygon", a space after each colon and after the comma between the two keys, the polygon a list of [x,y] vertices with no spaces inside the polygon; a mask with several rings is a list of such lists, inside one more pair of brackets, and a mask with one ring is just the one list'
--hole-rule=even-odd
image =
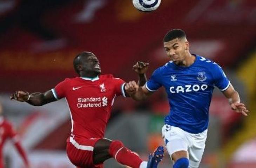
{"label": "red Nike jersey with white Standard Chartered lettering", "polygon": [[125,82],[113,75],[66,78],[52,89],[56,99],[65,97],[71,116],[71,134],[103,138],[116,96],[124,94]]}

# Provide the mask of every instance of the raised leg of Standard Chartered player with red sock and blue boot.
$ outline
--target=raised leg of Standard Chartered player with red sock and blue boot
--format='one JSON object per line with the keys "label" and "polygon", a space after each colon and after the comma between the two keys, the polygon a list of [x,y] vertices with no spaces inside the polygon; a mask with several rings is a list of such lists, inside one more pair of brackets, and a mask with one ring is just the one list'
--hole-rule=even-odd
{"label": "raised leg of Standard Chartered player with red sock and blue boot", "polygon": [[117,162],[129,167],[155,168],[163,157],[163,148],[158,148],[153,155],[150,155],[149,161],[145,162],[125,147],[121,141],[100,139],[96,142],[93,153],[93,162],[95,165],[113,157]]}

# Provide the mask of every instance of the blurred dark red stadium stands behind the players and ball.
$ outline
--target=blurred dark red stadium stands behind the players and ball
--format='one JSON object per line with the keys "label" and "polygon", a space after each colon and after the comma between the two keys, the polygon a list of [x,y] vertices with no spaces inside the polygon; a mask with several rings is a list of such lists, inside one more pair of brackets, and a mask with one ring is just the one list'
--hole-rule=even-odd
{"label": "blurred dark red stadium stands behind the players and ball", "polygon": [[[256,167],[256,1],[162,0],[159,9],[142,13],[131,0],[1,0],[0,102],[18,130],[33,168],[73,168],[66,156],[70,118],[65,101],[33,107],[9,101],[16,90],[44,92],[74,77],[73,58],[92,51],[103,73],[137,80],[132,65],[150,63],[147,76],[168,61],[164,34],[186,31],[192,53],[220,64],[249,111],[230,110],[217,91],[201,168]],[[147,159],[163,144],[161,128],[169,107],[164,90],[146,102],[117,98],[106,138],[119,139]],[[23,163],[11,143],[6,168]],[[107,168],[122,167],[110,159]],[[169,168],[165,157],[160,167]]]}

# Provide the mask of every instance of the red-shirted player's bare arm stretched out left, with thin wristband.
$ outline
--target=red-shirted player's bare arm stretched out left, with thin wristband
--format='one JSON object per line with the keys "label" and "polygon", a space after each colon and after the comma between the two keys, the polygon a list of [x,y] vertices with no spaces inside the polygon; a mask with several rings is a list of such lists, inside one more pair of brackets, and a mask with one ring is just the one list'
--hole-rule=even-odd
{"label": "red-shirted player's bare arm stretched out left, with thin wristband", "polygon": [[14,99],[19,102],[27,102],[33,106],[42,106],[44,104],[56,101],[56,98],[51,90],[48,90],[45,93],[36,92],[32,94],[24,91],[16,91],[15,93],[11,94],[10,99]]}

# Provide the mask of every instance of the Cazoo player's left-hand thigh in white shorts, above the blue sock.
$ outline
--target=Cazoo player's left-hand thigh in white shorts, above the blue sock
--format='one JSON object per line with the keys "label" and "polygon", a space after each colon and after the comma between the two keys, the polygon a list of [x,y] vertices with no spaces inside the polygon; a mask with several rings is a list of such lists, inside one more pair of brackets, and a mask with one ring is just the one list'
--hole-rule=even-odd
{"label": "Cazoo player's left-hand thigh in white shorts, above the blue sock", "polygon": [[162,129],[166,149],[175,162],[180,158],[188,158],[188,141],[186,133],[180,128],[164,125]]}

